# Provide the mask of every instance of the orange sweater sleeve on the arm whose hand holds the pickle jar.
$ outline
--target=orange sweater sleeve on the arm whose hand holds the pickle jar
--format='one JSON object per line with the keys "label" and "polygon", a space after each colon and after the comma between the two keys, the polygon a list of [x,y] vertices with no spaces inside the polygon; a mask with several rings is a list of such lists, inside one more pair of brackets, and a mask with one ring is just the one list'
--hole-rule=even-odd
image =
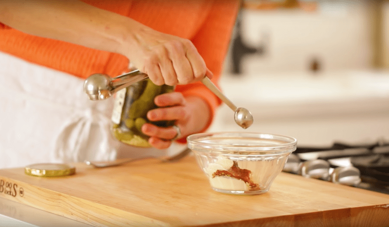
{"label": "orange sweater sleeve on the arm whose hand holds the pickle jar", "polygon": [[[209,16],[192,39],[208,69],[212,71],[212,82],[217,87],[219,87],[218,81],[228,52],[238,11],[239,1],[237,0],[215,0]],[[197,96],[206,101],[211,110],[211,119],[203,131],[207,130],[212,123],[216,108],[221,104],[221,100],[201,82],[177,86],[176,90],[182,92],[184,96]],[[186,142],[186,139],[178,140],[178,142]]]}

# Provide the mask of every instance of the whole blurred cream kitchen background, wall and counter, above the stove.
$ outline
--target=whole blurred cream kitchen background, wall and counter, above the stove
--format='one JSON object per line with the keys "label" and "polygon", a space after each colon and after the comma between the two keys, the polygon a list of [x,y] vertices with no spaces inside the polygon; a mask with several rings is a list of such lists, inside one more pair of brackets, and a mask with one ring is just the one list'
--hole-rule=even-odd
{"label": "whole blurred cream kitchen background, wall and counter, above the stove", "polygon": [[[388,0],[243,0],[220,84],[248,131],[389,140]],[[239,131],[222,105],[211,131]]]}

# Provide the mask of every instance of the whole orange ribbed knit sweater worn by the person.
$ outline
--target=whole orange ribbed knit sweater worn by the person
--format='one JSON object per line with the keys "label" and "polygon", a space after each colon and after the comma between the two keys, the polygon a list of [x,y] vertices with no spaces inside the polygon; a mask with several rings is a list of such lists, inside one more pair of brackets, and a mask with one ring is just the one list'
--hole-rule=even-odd
{"label": "whole orange ribbed knit sweater worn by the person", "polygon": [[[101,9],[131,17],[159,32],[190,39],[213,72],[212,81],[217,84],[238,12],[238,1],[84,1]],[[129,64],[129,60],[121,54],[27,35],[3,24],[0,24],[0,51],[80,78],[97,72],[113,77],[127,70]],[[210,105],[212,116],[216,107],[221,104],[201,83],[177,86],[176,90],[185,96],[202,97]]]}

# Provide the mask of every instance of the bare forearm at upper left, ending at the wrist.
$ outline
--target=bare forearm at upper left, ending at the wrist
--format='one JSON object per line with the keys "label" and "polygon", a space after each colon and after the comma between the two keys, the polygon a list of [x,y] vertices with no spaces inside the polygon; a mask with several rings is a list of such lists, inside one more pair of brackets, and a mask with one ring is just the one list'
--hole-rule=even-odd
{"label": "bare forearm at upper left, ending at the wrist", "polygon": [[139,22],[79,0],[1,0],[0,21],[30,35],[125,54]]}

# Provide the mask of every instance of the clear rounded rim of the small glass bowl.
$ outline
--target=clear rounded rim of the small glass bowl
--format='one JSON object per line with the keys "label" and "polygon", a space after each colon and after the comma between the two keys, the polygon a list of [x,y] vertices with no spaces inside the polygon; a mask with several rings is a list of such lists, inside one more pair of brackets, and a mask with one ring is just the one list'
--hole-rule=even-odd
{"label": "clear rounded rim of the small glass bowl", "polygon": [[[266,140],[276,140],[284,141],[280,144],[264,144],[264,145],[228,145],[220,144],[217,142],[203,142],[201,139],[211,138],[211,137],[220,137],[222,135],[233,135],[239,134],[243,137],[249,137],[254,139],[266,139]],[[225,136],[226,137],[226,136]],[[227,136],[228,137],[228,136]],[[200,141],[198,141],[200,140]],[[274,155],[274,154],[284,154],[291,153],[296,150],[297,139],[289,136],[283,136],[279,134],[272,133],[258,133],[258,132],[208,132],[208,133],[196,133],[187,137],[188,147],[192,150],[206,153],[230,153],[233,152],[236,155],[248,154],[251,155]],[[237,150],[243,150],[237,152]]]}

